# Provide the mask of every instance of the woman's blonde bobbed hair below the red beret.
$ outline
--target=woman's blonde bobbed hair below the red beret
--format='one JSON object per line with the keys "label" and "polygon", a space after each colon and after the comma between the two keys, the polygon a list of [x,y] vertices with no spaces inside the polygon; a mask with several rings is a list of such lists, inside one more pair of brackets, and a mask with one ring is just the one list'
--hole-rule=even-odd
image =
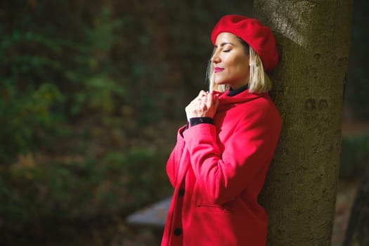
{"label": "woman's blonde bobbed hair below the red beret", "polygon": [[[244,41],[242,40],[242,42]],[[245,44],[243,45],[245,46]],[[268,75],[264,71],[263,63],[261,62],[260,56],[254,51],[254,49],[251,46],[249,48],[249,56],[250,56],[249,58],[249,67],[250,67],[249,91],[250,93],[263,93],[266,91],[270,91],[272,87],[271,79],[269,79]],[[245,69],[249,69],[249,67],[245,67]],[[207,79],[209,80],[209,91],[224,92],[230,88],[228,84],[215,84],[214,65],[212,64],[211,59],[209,60],[209,63],[207,65]]]}

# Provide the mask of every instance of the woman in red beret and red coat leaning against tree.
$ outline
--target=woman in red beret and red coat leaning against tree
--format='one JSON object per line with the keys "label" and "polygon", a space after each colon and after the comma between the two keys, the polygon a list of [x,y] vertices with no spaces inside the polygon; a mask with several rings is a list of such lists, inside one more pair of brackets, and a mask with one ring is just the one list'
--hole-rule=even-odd
{"label": "woman in red beret and red coat leaning against tree", "polygon": [[257,196],[280,133],[264,70],[278,63],[276,41],[259,21],[226,15],[212,30],[210,91],[186,107],[167,162],[174,195],[162,246],[266,244]]}

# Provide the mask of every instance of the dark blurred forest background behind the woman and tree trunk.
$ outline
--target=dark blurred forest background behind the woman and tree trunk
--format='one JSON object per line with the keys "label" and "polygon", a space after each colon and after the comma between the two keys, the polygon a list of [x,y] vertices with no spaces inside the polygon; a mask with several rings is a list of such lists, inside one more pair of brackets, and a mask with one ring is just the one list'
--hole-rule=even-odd
{"label": "dark blurred forest background behind the woman and tree trunk", "polygon": [[[2,0],[0,244],[155,245],[124,217],[171,194],[165,162],[207,89],[210,32],[252,1]],[[354,0],[340,179],[369,162],[368,1]]]}

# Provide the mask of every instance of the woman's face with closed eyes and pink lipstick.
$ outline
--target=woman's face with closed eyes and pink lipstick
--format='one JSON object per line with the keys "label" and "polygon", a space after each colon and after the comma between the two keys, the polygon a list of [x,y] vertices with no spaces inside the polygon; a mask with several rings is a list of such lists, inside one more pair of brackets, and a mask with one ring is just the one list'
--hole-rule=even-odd
{"label": "woman's face with closed eyes and pink lipstick", "polygon": [[216,37],[211,61],[215,84],[228,84],[238,89],[249,81],[249,55],[234,34],[221,32]]}

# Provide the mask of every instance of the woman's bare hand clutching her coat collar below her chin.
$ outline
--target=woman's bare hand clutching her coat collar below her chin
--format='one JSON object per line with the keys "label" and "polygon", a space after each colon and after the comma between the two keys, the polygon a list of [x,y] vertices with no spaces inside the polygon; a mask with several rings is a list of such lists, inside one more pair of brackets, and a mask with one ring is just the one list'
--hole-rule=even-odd
{"label": "woman's bare hand clutching her coat collar below her chin", "polygon": [[186,107],[187,120],[193,117],[213,118],[219,105],[218,95],[213,98],[212,93],[200,91],[199,95]]}

